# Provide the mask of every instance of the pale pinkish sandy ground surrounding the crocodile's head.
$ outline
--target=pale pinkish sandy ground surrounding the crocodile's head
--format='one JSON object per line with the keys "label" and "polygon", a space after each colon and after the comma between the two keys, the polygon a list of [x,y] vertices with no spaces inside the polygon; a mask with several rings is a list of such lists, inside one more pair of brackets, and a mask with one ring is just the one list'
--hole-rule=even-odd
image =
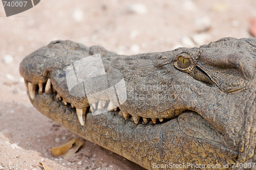
{"label": "pale pinkish sandy ground surrounding the crocodile's head", "polygon": [[28,100],[19,63],[40,46],[70,39],[126,55],[168,51],[249,37],[256,17],[254,0],[44,0],[10,17],[0,6],[0,169],[42,169],[39,162],[52,169],[143,169],[86,140],[71,158],[51,155],[50,148],[78,136]]}

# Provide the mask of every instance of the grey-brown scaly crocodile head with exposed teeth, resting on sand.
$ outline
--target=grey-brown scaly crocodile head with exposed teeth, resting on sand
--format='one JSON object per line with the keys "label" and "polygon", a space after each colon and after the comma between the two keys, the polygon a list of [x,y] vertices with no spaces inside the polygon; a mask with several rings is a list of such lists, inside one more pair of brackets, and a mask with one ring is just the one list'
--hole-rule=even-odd
{"label": "grey-brown scaly crocodile head with exposed teeth, resting on sand", "polygon": [[19,66],[42,114],[146,169],[256,169],[255,69],[256,39],[231,37],[131,56],[57,40]]}

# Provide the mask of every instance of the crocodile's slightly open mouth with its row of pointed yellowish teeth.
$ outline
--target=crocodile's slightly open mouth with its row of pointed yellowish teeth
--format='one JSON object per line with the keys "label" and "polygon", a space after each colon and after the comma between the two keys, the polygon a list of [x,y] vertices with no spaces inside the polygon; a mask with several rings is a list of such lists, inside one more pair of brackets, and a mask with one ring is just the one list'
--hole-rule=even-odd
{"label": "crocodile's slightly open mouth with its row of pointed yellowish teeth", "polygon": [[40,94],[52,94],[55,101],[58,101],[62,105],[66,107],[71,107],[77,113],[77,118],[81,126],[84,126],[85,120],[84,117],[88,113],[92,113],[95,110],[108,110],[108,111],[115,111],[118,112],[118,115],[123,117],[125,120],[130,122],[134,122],[137,124],[161,124],[165,123],[172,118],[148,118],[148,117],[141,117],[136,115],[131,115],[125,111],[120,110],[119,107],[114,107],[114,104],[111,101],[99,101],[97,103],[93,103],[86,108],[77,108],[72,103],[66,101],[65,98],[60,96],[56,88],[51,83],[51,79],[49,78],[46,83],[31,83],[25,80],[26,87],[28,89],[28,94],[31,100],[34,100],[36,95]]}

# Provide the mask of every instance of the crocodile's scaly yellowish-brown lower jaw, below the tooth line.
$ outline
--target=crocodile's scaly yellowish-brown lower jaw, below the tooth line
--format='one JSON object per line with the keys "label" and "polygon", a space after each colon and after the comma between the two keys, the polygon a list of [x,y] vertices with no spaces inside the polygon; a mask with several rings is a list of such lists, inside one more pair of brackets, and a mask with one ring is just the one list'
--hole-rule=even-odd
{"label": "crocodile's scaly yellowish-brown lower jaw, below the tooth line", "polygon": [[[25,83],[30,101],[42,114],[82,138],[147,169],[152,169],[154,162],[166,164],[171,160],[180,161],[177,155],[183,154],[184,145],[190,148],[186,150],[186,154],[191,156],[188,162],[207,164],[218,160],[221,164],[227,164],[237,159],[238,153],[228,147],[224,136],[194,111],[187,110],[155,124],[153,121],[145,124],[143,118],[139,118],[138,122],[141,123],[136,125],[138,122],[133,120],[134,116],[124,115],[126,120],[118,116],[121,113],[118,108],[94,116],[88,107],[79,118],[79,109],[72,108],[65,99],[61,100],[61,96],[49,88],[49,84]],[[206,152],[204,148],[210,148],[207,160],[201,156]]]}

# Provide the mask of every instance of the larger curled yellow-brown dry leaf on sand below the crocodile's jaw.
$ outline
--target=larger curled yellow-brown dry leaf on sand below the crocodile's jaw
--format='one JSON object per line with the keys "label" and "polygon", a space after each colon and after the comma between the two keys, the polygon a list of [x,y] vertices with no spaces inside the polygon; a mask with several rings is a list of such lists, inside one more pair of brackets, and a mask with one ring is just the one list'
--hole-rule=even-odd
{"label": "larger curled yellow-brown dry leaf on sand below the crocodile's jaw", "polygon": [[[70,141],[68,141],[67,143],[59,146],[59,147],[55,147],[55,148],[51,148],[51,153],[54,156],[59,156],[62,154],[66,154],[63,156],[63,158],[67,158],[70,157],[71,155],[74,155],[76,153],[76,151],[83,145],[83,142],[79,139],[72,139]],[[73,147],[73,148],[72,148]],[[71,149],[72,148],[72,149]]]}

